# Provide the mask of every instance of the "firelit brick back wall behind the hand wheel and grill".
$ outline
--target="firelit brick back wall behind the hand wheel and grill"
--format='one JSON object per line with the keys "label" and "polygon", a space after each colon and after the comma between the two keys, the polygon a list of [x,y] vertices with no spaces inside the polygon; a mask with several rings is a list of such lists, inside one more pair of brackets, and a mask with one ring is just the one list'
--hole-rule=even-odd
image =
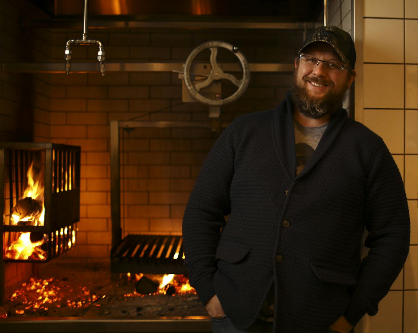
{"label": "firelit brick back wall behind the hand wheel and grill", "polygon": [[[51,30],[51,57],[63,61],[67,39],[81,31]],[[90,30],[106,47],[106,61],[184,62],[210,40],[240,47],[250,62],[292,62],[302,31],[262,30]],[[74,61],[94,61],[95,48],[76,47]],[[220,54],[219,61],[234,59]],[[209,56],[206,58],[209,61]],[[285,97],[291,73],[253,73],[245,95],[222,107],[221,119],[275,107]],[[224,92],[231,92],[226,86]],[[71,257],[104,258],[110,253],[111,120],[209,121],[209,108],[181,104],[181,80],[170,72],[52,74],[51,141],[82,147],[81,220]],[[184,208],[204,158],[219,133],[205,129],[148,128],[123,131],[122,188],[124,236],[181,233]]]}

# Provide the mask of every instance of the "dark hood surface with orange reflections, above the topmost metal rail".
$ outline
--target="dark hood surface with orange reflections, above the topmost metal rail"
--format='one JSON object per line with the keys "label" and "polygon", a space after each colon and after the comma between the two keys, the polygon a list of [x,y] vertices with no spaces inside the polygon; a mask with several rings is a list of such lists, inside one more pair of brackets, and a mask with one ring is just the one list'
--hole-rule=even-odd
{"label": "dark hood surface with orange reflections, above the topmost metal rail", "polygon": [[[31,0],[53,19],[83,15],[84,0]],[[235,18],[276,22],[321,20],[323,0],[89,0],[94,19],[202,20]],[[122,18],[124,17],[124,18]]]}

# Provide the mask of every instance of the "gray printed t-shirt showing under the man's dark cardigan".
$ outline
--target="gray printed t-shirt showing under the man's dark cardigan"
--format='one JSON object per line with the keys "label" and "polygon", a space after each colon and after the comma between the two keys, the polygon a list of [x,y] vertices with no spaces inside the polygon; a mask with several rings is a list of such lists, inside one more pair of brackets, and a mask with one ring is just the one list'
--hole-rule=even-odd
{"label": "gray printed t-shirt showing under the man's dark cardigan", "polygon": [[[295,131],[295,150],[296,150],[296,174],[300,174],[314,154],[322,134],[324,134],[328,123],[317,127],[306,127],[293,119],[293,129]],[[259,318],[266,321],[273,321],[274,317],[274,284],[270,288]]]}

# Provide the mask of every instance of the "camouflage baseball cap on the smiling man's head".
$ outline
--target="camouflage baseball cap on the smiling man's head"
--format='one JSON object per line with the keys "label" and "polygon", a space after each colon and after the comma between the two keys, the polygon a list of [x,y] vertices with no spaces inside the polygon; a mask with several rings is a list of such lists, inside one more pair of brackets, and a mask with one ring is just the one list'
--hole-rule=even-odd
{"label": "camouflage baseball cap on the smiling man's head", "polygon": [[303,42],[298,53],[301,53],[306,46],[316,42],[324,42],[331,45],[345,63],[350,63],[354,68],[356,63],[356,49],[350,34],[334,26],[322,26],[311,31]]}

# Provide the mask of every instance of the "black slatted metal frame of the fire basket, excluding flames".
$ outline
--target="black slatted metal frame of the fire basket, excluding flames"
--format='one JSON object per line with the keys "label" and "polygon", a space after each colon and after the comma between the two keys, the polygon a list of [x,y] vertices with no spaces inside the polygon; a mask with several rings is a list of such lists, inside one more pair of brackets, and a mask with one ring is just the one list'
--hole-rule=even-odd
{"label": "black slatted metal frame of the fire basket, excluding flames", "polygon": [[[72,227],[74,223],[79,221],[79,206],[80,206],[80,152],[81,147],[79,146],[69,146],[57,143],[16,143],[16,142],[1,142],[0,143],[0,193],[4,194],[5,186],[5,154],[9,154],[9,159],[11,159],[12,151],[15,150],[14,156],[17,158],[17,151],[20,151],[20,154],[23,155],[23,152],[27,151],[44,151],[44,165],[45,165],[45,176],[44,176],[44,203],[45,203],[45,222],[44,225],[30,226],[30,225],[6,225],[4,224],[4,218],[0,223],[0,249],[2,250],[2,257],[0,258],[0,306],[4,304],[5,300],[5,263],[6,262],[36,262],[36,263],[45,263],[56,256],[66,252],[69,247],[67,243],[61,243],[60,230],[63,228],[68,228],[69,233],[72,230],[75,231]],[[8,152],[6,152],[8,151]],[[53,151],[58,152],[56,162],[53,160]],[[72,164],[74,166],[74,173],[72,174],[72,185],[74,186],[71,190],[59,191],[53,193],[53,183],[56,184],[57,180],[61,181],[59,172],[55,170],[53,178],[53,168],[61,168],[61,165],[66,164],[67,168],[70,166],[70,159],[66,159],[66,154],[62,154],[62,151],[72,151],[74,155],[72,156]],[[20,155],[20,161],[22,161],[22,155]],[[70,156],[70,155],[69,155]],[[27,158],[27,157],[26,157]],[[17,160],[16,160],[17,161]],[[61,164],[62,163],[62,164]],[[16,168],[17,168],[16,164]],[[22,168],[20,168],[22,169]],[[23,169],[22,169],[23,170]],[[22,171],[20,170],[20,171]],[[17,172],[17,171],[15,171]],[[22,177],[22,176],[21,176]],[[11,178],[11,177],[10,177]],[[55,182],[54,182],[55,180]],[[16,186],[17,186],[16,182]],[[12,187],[13,181],[10,179],[10,187]],[[16,201],[18,200],[18,190],[16,193]],[[11,198],[13,203],[13,197]],[[70,202],[71,207],[75,207],[71,210],[71,214],[68,214],[65,210],[62,210],[62,207],[65,207]],[[72,202],[72,204],[71,204]],[[4,216],[4,197],[2,202],[0,202],[0,216]],[[61,212],[62,210],[62,212]],[[3,233],[5,232],[41,232],[48,235],[48,256],[46,260],[12,260],[3,258],[4,255],[4,238]],[[58,233],[58,235],[57,235]],[[72,246],[75,246],[71,241]],[[71,247],[72,247],[71,246]],[[56,248],[58,247],[58,249]]]}

